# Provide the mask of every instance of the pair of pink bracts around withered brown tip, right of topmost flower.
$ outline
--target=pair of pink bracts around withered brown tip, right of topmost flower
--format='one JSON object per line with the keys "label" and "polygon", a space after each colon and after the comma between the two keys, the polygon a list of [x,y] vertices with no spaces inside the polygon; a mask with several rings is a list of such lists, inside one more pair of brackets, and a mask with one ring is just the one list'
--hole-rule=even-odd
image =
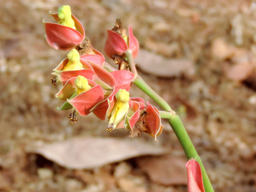
{"label": "pair of pink bracts around withered brown tip, right of topmost flower", "polygon": [[129,26],[128,41],[125,41],[126,37],[122,37],[117,32],[107,30],[108,37],[104,45],[104,51],[106,55],[111,58],[111,55],[122,56],[128,50],[132,50],[133,58],[136,58],[139,52],[139,42],[133,35],[132,26]]}

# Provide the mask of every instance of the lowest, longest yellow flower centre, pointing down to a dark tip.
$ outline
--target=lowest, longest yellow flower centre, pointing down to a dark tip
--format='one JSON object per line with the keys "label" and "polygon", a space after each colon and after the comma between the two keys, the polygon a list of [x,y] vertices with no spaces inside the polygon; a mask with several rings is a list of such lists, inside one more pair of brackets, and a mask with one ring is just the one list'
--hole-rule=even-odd
{"label": "lowest, longest yellow flower centre, pointing down to a dark tip", "polygon": [[112,109],[107,130],[111,131],[124,119],[126,112],[129,110],[129,92],[125,89],[119,89],[115,95],[116,103]]}

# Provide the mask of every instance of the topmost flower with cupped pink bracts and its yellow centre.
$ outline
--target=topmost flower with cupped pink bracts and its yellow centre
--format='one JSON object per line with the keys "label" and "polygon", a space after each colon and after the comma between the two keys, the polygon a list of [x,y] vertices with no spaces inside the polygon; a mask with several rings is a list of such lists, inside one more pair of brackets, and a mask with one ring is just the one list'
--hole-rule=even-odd
{"label": "topmost flower with cupped pink bracts and its yellow centre", "polygon": [[44,22],[47,43],[57,50],[70,50],[83,42],[85,32],[80,21],[71,14],[70,6],[62,6],[51,13],[58,23]]}

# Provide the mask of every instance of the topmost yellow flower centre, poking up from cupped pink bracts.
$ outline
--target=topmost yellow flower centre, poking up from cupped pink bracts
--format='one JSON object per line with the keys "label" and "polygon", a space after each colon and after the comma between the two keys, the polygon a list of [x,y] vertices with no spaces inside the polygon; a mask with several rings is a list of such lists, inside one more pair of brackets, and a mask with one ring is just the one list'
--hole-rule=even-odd
{"label": "topmost yellow flower centre, poking up from cupped pink bracts", "polygon": [[71,9],[69,5],[64,5],[58,9],[58,24],[71,27],[76,30],[75,22],[71,17]]}

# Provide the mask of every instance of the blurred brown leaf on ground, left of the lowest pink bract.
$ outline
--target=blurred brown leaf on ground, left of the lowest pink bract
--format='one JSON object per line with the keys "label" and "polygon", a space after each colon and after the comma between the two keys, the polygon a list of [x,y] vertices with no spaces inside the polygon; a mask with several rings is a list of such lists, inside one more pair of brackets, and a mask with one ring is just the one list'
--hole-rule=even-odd
{"label": "blurred brown leaf on ground, left of the lowest pink bract", "polygon": [[136,162],[150,180],[163,185],[186,185],[186,158],[173,155],[141,157]]}

